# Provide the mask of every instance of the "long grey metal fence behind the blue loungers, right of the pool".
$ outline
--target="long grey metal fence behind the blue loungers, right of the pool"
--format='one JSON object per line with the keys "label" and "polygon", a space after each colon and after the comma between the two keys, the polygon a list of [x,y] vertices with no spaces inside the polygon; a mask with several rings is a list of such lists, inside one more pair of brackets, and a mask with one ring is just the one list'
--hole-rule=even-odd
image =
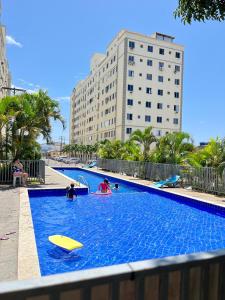
{"label": "long grey metal fence behind the blue loungers, right of the pool", "polygon": [[195,169],[180,165],[115,159],[98,159],[97,166],[107,171],[151,181],[163,180],[172,175],[180,175],[183,184],[192,186],[193,189],[215,194],[225,194],[225,171],[223,174],[220,174],[215,168]]}

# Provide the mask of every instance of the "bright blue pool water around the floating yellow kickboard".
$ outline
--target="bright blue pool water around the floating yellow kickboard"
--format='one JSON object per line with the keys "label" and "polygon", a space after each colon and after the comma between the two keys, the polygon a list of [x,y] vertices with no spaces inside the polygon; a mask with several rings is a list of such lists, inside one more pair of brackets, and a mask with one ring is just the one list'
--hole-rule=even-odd
{"label": "bright blue pool water around the floating yellow kickboard", "polygon": [[[101,179],[78,170],[64,173],[85,173],[92,191]],[[225,248],[224,213],[120,184],[120,192],[110,196],[82,195],[74,202],[55,192],[30,193],[42,275]],[[68,255],[48,242],[54,234],[84,247]]]}

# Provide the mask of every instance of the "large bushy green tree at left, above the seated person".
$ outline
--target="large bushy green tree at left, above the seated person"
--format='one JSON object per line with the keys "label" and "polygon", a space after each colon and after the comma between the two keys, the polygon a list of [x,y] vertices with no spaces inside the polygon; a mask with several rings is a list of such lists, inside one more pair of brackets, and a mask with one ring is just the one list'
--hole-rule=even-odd
{"label": "large bushy green tree at left, above the seated person", "polygon": [[[2,126],[10,124],[10,118],[13,122],[10,124],[11,156],[20,157],[25,155],[27,149],[33,145],[37,151],[40,151],[36,145],[36,139],[42,135],[47,143],[51,142],[51,120],[59,120],[65,127],[64,120],[60,114],[59,103],[51,99],[47,92],[40,90],[36,94],[22,94],[13,97],[5,97],[1,100],[0,107],[0,130],[2,135]],[[5,107],[3,109],[3,107]],[[3,114],[7,118],[3,118]],[[33,156],[35,151],[31,151]]]}

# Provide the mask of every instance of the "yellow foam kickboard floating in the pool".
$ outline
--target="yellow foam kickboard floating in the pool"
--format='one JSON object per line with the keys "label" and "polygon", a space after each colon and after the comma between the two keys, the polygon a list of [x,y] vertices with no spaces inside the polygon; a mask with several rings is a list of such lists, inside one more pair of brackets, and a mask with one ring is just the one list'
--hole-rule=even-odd
{"label": "yellow foam kickboard floating in the pool", "polygon": [[83,247],[83,244],[81,244],[80,242],[63,235],[51,235],[48,237],[48,240],[52,244],[68,251]]}

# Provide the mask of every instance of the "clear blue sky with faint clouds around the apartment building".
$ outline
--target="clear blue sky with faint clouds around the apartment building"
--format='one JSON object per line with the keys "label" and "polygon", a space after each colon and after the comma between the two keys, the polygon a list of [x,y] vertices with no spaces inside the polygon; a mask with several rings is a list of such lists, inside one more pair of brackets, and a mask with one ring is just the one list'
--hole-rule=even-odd
{"label": "clear blue sky with faint clouds around the apartment building", "polygon": [[89,72],[94,52],[105,52],[121,30],[174,35],[185,46],[183,130],[195,143],[225,136],[225,22],[183,25],[178,0],[2,0],[13,84],[47,89],[67,121],[53,139],[68,141],[69,96]]}

